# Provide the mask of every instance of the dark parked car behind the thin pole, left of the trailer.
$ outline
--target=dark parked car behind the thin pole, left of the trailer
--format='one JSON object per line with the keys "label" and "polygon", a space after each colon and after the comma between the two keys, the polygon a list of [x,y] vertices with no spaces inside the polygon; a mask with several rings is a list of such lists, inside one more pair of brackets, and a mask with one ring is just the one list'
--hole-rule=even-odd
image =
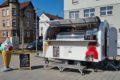
{"label": "dark parked car behind the thin pole, left of the trailer", "polygon": [[[28,50],[36,50],[36,40],[29,43],[26,46],[26,49],[28,49]],[[37,50],[42,50],[42,49],[43,49],[43,40],[39,39],[39,40],[37,40]]]}

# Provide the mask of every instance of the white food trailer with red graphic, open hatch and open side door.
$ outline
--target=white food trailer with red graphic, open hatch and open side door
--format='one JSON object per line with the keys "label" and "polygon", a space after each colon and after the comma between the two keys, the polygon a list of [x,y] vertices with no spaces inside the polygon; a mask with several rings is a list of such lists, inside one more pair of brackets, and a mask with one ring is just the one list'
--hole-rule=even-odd
{"label": "white food trailer with red graphic, open hatch and open side door", "polygon": [[45,66],[53,60],[59,62],[55,66],[60,71],[75,68],[82,73],[82,62],[99,63],[117,55],[117,30],[106,20],[89,17],[48,23],[43,36]]}

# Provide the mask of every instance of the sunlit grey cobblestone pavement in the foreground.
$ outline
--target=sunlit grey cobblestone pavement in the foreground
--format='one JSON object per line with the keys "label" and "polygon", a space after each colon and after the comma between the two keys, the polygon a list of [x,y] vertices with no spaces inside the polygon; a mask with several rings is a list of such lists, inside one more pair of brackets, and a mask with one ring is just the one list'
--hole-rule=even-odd
{"label": "sunlit grey cobblestone pavement in the foreground", "polygon": [[[31,55],[32,70],[18,70],[19,56],[12,55],[11,65],[13,71],[0,72],[0,80],[120,80],[120,71],[89,72],[84,76],[77,70],[43,69],[43,59]],[[2,68],[0,55],[0,69]]]}

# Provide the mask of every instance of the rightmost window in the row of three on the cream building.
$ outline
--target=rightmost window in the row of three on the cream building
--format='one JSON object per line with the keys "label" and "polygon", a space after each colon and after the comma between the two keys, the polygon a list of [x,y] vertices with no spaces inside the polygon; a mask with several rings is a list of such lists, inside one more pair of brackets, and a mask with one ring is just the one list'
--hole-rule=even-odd
{"label": "rightmost window in the row of three on the cream building", "polygon": [[112,15],[113,14],[113,6],[101,7],[100,15]]}

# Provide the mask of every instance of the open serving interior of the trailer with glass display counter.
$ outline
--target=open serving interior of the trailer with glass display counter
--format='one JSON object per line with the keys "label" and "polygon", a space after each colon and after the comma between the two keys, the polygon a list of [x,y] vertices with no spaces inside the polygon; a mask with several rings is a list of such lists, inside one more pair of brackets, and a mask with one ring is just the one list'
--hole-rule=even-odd
{"label": "open serving interior of the trailer with glass display counter", "polygon": [[50,26],[46,33],[46,40],[61,39],[79,39],[79,40],[96,40],[99,29],[98,23],[80,23],[64,24]]}

